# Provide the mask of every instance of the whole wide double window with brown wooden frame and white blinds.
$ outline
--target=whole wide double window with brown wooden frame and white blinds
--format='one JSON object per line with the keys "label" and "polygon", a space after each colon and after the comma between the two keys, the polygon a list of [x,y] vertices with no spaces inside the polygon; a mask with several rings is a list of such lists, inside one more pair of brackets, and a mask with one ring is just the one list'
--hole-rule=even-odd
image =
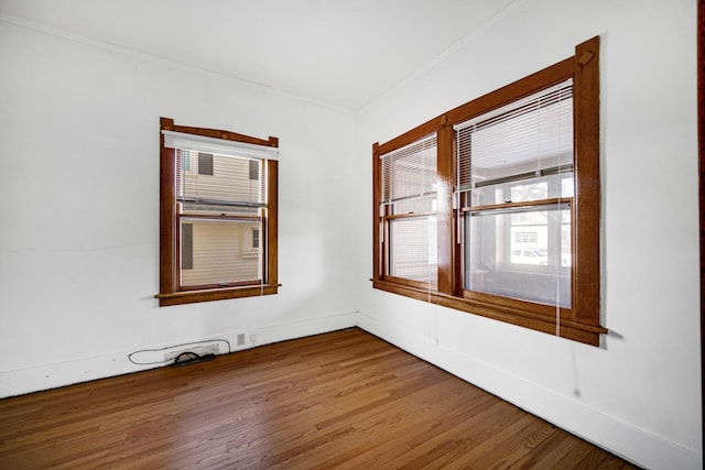
{"label": "whole wide double window with brown wooden frame and white blinds", "polygon": [[599,345],[598,56],[372,146],[376,288]]}

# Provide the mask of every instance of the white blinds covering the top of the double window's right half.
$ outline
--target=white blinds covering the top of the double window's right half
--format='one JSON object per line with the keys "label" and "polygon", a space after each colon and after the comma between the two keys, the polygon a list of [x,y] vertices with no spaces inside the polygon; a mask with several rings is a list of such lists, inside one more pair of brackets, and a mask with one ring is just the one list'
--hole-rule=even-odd
{"label": "white blinds covering the top of the double window's right half", "polygon": [[454,127],[454,187],[475,187],[573,170],[573,80]]}

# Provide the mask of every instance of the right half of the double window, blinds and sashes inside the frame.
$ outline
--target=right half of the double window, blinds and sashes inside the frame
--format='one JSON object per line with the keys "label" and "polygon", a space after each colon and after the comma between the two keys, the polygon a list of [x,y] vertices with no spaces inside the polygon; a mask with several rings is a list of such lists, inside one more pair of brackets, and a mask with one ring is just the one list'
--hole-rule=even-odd
{"label": "right half of the double window, blinds and sashes inside the frame", "polygon": [[572,81],[454,127],[467,296],[571,307]]}

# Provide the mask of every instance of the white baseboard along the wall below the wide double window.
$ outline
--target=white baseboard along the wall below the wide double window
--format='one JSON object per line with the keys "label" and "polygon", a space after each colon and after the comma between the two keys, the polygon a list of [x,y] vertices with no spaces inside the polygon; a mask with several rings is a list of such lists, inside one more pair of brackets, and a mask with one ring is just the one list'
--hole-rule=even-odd
{"label": "white baseboard along the wall below the wide double window", "polygon": [[702,456],[691,449],[399,325],[384,325],[360,313],[358,327],[639,467],[702,469]]}

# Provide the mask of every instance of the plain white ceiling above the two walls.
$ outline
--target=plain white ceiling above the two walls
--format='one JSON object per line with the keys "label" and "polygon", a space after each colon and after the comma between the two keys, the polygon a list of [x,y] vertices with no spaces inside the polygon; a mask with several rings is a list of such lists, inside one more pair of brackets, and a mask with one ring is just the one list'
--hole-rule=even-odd
{"label": "plain white ceiling above the two walls", "polygon": [[352,111],[517,0],[0,0],[0,19]]}

